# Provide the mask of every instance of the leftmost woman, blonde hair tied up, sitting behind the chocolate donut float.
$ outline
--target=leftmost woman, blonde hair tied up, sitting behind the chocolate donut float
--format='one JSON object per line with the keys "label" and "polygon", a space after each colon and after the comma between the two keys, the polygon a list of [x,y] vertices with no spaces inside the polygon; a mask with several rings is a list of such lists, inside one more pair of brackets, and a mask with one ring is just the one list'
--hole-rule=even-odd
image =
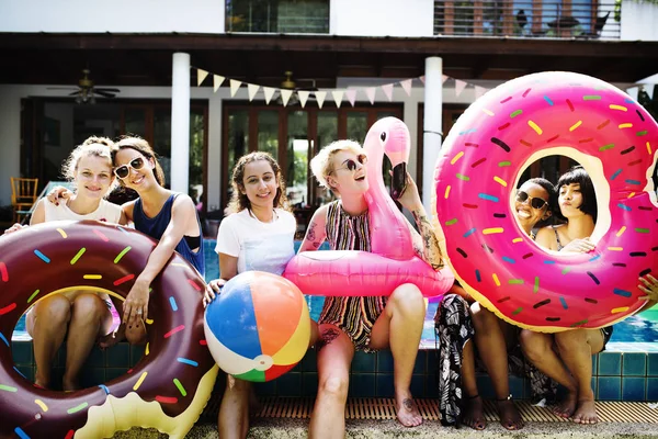
{"label": "leftmost woman, blonde hair tied up, sitting behind the chocolate donut float", "polygon": [[[125,224],[121,206],[103,199],[114,185],[112,145],[109,138],[92,136],[76,147],[63,167],[63,175],[76,185],[73,195],[57,204],[39,200],[30,225],[58,219]],[[14,224],[5,234],[23,227],[26,226]],[[50,365],[66,337],[61,387],[64,391],[79,389],[78,376],[91,348],[112,328],[107,299],[104,293],[70,291],[48,295],[27,312],[25,326],[34,340],[35,385],[50,386]]]}

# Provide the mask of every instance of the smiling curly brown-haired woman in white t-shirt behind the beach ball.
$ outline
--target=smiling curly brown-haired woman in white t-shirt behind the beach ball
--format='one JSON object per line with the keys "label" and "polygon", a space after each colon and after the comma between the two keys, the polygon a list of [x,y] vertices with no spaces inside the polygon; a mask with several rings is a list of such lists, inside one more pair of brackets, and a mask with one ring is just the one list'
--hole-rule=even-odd
{"label": "smiling curly brown-haired woman in white t-shirt behind the beach ball", "polygon": [[[268,153],[241,157],[232,172],[230,214],[219,224],[220,279],[206,288],[204,306],[229,279],[243,271],[283,273],[295,256],[295,216],[288,211],[281,168]],[[251,383],[227,376],[217,419],[220,438],[245,438],[249,431]]]}

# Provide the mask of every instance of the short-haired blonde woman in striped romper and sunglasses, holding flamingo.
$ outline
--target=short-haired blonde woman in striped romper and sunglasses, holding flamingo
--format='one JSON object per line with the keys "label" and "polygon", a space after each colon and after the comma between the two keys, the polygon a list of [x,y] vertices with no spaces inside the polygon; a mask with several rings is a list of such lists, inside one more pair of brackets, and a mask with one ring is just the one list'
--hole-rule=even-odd
{"label": "short-haired blonde woman in striped romper and sunglasses, holding flamingo", "polygon": [[[316,211],[299,251],[317,250],[325,239],[332,250],[370,251],[366,160],[364,149],[352,140],[334,142],[311,160],[320,185],[339,200]],[[431,266],[441,267],[441,252],[418,189],[409,176],[407,183],[398,201],[413,214],[421,230],[422,239],[413,232],[415,248]],[[422,423],[409,385],[424,313],[422,294],[412,284],[398,286],[388,297],[326,299],[319,320],[319,384],[309,437],[344,436],[350,364],[356,350],[392,349],[398,420],[407,427]]]}

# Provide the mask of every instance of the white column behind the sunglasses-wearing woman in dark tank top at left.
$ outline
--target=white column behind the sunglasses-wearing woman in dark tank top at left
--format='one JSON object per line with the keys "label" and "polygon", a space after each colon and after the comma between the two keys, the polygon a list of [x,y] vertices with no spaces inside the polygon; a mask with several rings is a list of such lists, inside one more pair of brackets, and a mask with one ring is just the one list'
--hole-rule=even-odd
{"label": "white column behind the sunglasses-wearing woman in dark tank top at left", "polygon": [[190,54],[173,54],[171,70],[171,190],[190,183]]}

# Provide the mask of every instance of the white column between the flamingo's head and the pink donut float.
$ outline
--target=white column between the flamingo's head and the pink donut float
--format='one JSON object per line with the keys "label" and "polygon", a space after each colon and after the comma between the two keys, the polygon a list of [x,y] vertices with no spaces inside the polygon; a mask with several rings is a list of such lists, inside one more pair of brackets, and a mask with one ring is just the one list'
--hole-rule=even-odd
{"label": "white column between the flamingo's head and the pink donut float", "polygon": [[441,149],[443,112],[443,60],[436,56],[426,59],[424,119],[422,134],[422,204],[428,215],[434,196],[434,168]]}

